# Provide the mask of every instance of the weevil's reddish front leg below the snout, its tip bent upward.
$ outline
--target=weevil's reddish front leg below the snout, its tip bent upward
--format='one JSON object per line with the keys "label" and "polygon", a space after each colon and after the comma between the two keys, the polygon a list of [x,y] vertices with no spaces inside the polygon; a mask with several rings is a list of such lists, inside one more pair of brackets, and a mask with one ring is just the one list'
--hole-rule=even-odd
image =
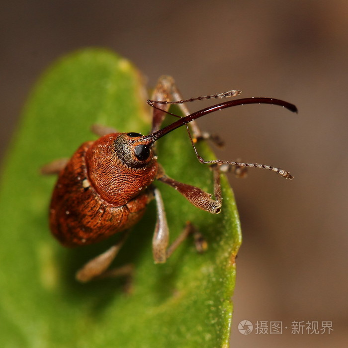
{"label": "weevil's reddish front leg below the snout, its tip bent upward", "polygon": [[162,172],[161,176],[157,179],[174,187],[179,191],[190,203],[196,207],[208,211],[212,214],[218,214],[221,211],[221,186],[220,186],[220,172],[218,165],[212,165],[210,167],[214,174],[214,195],[215,199],[211,198],[211,194],[203,191],[202,189],[188,185],[179,181],[172,179]]}

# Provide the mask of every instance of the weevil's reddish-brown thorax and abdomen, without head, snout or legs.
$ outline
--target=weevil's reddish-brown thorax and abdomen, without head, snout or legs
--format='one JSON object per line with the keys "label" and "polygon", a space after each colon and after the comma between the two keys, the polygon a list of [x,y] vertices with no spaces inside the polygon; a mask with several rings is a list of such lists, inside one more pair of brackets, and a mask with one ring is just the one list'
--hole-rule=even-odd
{"label": "weevil's reddish-brown thorax and abdomen, without head, snout or legs", "polygon": [[115,151],[123,138],[130,137],[113,133],[84,143],[59,174],[50,227],[64,246],[95,243],[127,229],[141,219],[153,198],[148,186],[158,164],[151,156],[142,166],[130,168]]}

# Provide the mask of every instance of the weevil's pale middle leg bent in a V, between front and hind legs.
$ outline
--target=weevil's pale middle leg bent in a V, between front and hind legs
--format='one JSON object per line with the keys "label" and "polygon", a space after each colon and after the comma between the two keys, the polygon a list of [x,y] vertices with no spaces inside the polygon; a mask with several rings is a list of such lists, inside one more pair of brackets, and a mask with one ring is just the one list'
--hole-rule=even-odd
{"label": "weevil's pale middle leg bent in a V, between front and hind legs", "polygon": [[176,240],[168,247],[169,229],[167,224],[166,212],[161,193],[158,188],[154,189],[157,203],[157,222],[154,237],[152,240],[152,252],[155,263],[164,263],[173,254],[174,250],[187,238],[193,234],[195,246],[198,252],[202,253],[207,249],[207,244],[203,236],[192,226],[190,222],[186,223],[184,230]]}

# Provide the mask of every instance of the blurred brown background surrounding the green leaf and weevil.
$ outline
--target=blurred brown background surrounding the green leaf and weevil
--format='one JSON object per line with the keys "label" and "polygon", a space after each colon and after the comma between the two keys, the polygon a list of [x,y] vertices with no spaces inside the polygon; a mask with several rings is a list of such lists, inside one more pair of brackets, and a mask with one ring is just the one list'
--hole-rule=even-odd
{"label": "blurred brown background surrounding the green leaf and weevil", "polygon": [[[242,221],[232,347],[343,347],[348,325],[346,0],[1,1],[0,155],[27,95],[52,61],[111,48],[154,86],[172,75],[184,97],[236,88],[293,102],[200,121],[226,140],[226,160],[279,166],[230,176]],[[189,105],[200,108],[206,104]],[[177,178],[179,179],[179,178]],[[238,323],[282,321],[282,335]],[[292,321],[332,321],[328,335],[291,335]]]}

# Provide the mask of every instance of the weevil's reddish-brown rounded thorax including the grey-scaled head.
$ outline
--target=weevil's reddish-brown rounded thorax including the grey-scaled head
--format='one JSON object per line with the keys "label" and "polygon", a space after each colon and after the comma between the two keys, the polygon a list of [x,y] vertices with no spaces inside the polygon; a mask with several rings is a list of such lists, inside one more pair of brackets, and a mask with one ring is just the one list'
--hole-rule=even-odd
{"label": "weevil's reddish-brown rounded thorax including the grey-scaled head", "polygon": [[154,181],[158,170],[152,149],[148,149],[148,158],[139,160],[136,157],[139,143],[128,134],[114,133],[101,137],[86,154],[87,173],[92,186],[102,199],[115,206],[125,205],[142,193]]}

